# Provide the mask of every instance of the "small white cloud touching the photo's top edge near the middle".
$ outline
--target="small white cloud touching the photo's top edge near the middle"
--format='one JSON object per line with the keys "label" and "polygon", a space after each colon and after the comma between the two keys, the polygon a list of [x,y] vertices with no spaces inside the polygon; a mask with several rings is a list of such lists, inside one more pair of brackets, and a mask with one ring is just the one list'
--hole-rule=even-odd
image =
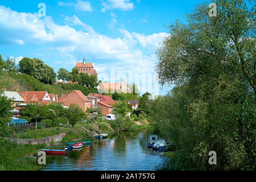
{"label": "small white cloud touching the photo's top edge near the middle", "polygon": [[112,9],[121,9],[122,11],[133,10],[134,5],[130,2],[130,0],[107,0],[101,3],[104,7],[101,11],[105,12],[105,10]]}

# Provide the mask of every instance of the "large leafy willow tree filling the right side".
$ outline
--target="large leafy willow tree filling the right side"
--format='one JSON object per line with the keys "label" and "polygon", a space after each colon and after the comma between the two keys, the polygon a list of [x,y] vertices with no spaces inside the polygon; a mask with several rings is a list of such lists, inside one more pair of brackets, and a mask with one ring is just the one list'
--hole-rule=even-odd
{"label": "large leafy willow tree filling the right side", "polygon": [[[170,25],[157,55],[162,85],[176,84],[161,113],[177,144],[174,169],[255,169],[255,1],[209,1]],[[159,110],[159,104],[153,104]],[[209,151],[217,165],[209,165]]]}

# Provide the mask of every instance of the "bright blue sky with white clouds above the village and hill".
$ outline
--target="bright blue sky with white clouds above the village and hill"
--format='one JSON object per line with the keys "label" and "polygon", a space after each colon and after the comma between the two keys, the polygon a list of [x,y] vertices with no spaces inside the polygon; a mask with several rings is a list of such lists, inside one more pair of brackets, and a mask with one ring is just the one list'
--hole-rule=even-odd
{"label": "bright blue sky with white clouds above the village and hill", "polygon": [[[167,26],[185,22],[203,0],[0,0],[0,54],[39,58],[71,71],[77,62],[93,63],[98,79],[128,84],[141,93],[166,94],[158,85],[155,52],[168,36]],[[39,14],[46,5],[46,16]],[[136,81],[137,79],[137,81]]]}

